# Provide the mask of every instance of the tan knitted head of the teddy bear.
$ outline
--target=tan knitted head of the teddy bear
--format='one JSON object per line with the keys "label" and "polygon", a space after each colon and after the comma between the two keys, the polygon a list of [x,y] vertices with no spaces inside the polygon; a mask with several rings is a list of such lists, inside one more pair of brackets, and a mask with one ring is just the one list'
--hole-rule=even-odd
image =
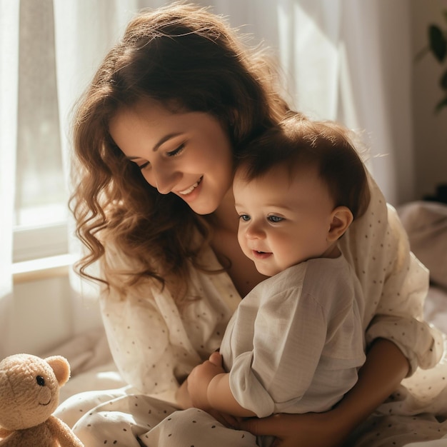
{"label": "tan knitted head of the teddy bear", "polygon": [[0,362],[0,426],[9,431],[39,425],[59,405],[59,386],[70,377],[64,357],[16,354]]}

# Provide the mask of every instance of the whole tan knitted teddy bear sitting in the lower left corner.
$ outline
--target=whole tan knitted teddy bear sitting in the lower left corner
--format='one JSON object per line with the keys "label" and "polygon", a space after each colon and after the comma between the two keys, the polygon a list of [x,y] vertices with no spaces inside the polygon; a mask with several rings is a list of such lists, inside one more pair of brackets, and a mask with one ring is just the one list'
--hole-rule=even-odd
{"label": "whole tan knitted teddy bear sitting in the lower left corner", "polygon": [[84,447],[51,414],[59,405],[59,387],[69,378],[62,356],[14,354],[0,361],[0,446]]}

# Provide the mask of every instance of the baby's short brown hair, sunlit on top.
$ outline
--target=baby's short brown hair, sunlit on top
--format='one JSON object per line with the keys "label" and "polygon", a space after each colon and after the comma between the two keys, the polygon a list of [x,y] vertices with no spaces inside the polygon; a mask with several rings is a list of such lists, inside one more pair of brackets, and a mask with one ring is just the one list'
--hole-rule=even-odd
{"label": "baby's short brown hair, sunlit on top", "polygon": [[316,166],[335,206],[346,206],[354,219],[362,216],[371,194],[368,174],[351,139],[352,132],[333,121],[312,121],[291,113],[257,139],[238,156],[236,169],[251,181],[278,165],[291,177],[303,166]]}

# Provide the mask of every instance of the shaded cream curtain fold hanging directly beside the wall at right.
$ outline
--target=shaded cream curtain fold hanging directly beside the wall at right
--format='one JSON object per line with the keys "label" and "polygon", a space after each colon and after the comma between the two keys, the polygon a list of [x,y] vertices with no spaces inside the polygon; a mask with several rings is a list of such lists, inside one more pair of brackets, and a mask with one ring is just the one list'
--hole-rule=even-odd
{"label": "shaded cream curtain fold hanging directly beside the wall at right", "polygon": [[415,199],[411,2],[343,0],[343,45],[358,125],[370,134],[371,171],[386,199]]}

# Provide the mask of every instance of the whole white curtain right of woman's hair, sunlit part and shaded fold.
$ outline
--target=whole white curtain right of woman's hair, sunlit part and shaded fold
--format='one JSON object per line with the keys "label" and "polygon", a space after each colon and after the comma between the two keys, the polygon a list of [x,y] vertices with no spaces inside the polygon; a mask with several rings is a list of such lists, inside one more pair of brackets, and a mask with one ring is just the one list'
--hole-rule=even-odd
{"label": "whole white curtain right of woman's hair, sunlit part and shaded fold", "polygon": [[410,4],[279,0],[281,62],[298,109],[364,132],[386,199],[413,197]]}

